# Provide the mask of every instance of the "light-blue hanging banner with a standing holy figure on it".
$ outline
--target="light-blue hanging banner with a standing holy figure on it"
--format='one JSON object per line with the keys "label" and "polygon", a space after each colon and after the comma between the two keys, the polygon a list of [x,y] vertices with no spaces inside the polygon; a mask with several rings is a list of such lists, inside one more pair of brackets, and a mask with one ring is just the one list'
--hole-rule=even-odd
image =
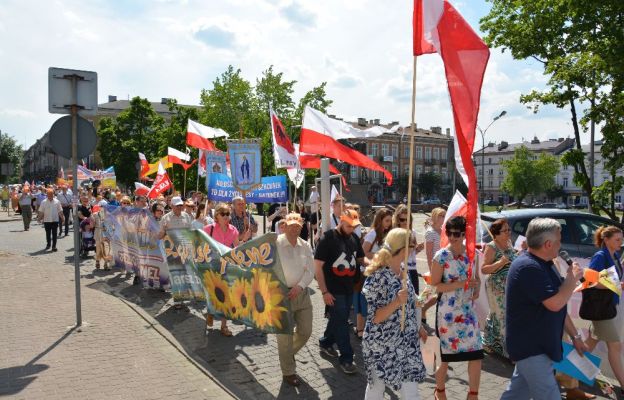
{"label": "light-blue hanging banner with a standing holy figure on it", "polygon": [[232,183],[237,190],[248,192],[260,185],[262,156],[258,139],[228,140],[228,154]]}

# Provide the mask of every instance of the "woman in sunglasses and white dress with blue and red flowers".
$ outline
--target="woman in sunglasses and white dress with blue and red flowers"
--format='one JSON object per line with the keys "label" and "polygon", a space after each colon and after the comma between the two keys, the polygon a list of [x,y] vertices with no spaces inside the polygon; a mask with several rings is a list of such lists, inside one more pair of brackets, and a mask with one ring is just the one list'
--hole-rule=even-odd
{"label": "woman in sunglasses and white dress with blue and red flowers", "polygon": [[[466,219],[446,222],[449,244],[440,249],[431,264],[431,285],[438,292],[436,330],[442,362],[436,370],[434,398],[446,400],[445,381],[449,362],[468,361],[468,399],[477,399],[483,347],[474,300],[479,296],[478,270],[468,276],[469,262],[463,241]],[[467,289],[466,289],[467,287]]]}

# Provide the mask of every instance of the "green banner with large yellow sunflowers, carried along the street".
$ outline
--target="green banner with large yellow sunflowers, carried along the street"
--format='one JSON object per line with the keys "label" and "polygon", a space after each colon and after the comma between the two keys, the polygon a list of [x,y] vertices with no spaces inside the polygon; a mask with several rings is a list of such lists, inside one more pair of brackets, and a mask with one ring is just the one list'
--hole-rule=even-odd
{"label": "green banner with large yellow sunflowers, carried along the street", "polygon": [[205,300],[216,318],[267,333],[292,333],[276,239],[268,233],[229,249],[201,230],[169,231],[165,253],[174,299]]}

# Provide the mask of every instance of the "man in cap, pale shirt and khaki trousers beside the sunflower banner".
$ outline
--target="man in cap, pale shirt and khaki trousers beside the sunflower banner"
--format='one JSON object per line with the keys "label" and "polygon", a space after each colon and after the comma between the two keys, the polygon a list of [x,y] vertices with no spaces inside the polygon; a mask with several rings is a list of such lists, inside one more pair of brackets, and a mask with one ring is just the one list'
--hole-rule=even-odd
{"label": "man in cap, pale shirt and khaki trousers beside the sunflower banner", "polygon": [[284,381],[292,386],[301,384],[296,374],[295,354],[305,346],[312,334],[312,302],[308,285],[314,278],[314,255],[310,245],[299,237],[303,218],[296,213],[285,218],[284,233],[277,237],[276,246],[282,263],[295,332],[277,335],[277,351]]}

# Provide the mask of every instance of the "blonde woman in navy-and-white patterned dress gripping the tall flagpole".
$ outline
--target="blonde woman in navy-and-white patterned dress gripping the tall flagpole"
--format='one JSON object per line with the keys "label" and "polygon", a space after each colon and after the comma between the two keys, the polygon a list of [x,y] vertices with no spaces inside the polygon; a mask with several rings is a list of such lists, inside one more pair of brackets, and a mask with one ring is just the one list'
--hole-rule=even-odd
{"label": "blonde woman in navy-and-white patterned dress gripping the tall flagpole", "polygon": [[[386,386],[401,391],[403,399],[419,399],[418,383],[425,379],[420,352],[420,338],[427,333],[420,326],[416,308],[416,291],[405,279],[401,264],[405,260],[405,242],[410,231],[395,228],[388,232],[384,244],[371,264],[362,293],[368,303],[368,315],[362,354],[368,385],[365,399],[383,399]],[[402,307],[405,304],[405,326],[401,331]]]}

